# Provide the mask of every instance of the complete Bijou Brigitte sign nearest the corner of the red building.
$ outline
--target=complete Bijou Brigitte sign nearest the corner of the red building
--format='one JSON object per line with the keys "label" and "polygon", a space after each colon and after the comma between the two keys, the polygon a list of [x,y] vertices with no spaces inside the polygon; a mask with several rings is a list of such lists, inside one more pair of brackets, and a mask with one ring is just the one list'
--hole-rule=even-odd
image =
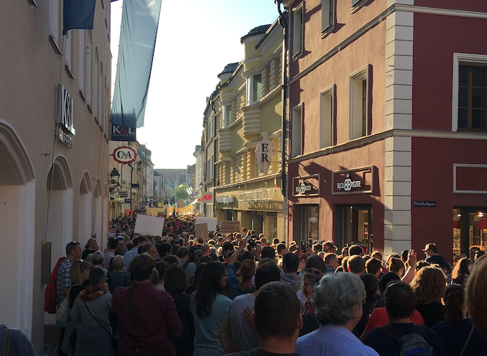
{"label": "complete Bijou Brigitte sign nearest the corner of the red building", "polygon": [[333,172],[331,194],[372,193],[373,166]]}

